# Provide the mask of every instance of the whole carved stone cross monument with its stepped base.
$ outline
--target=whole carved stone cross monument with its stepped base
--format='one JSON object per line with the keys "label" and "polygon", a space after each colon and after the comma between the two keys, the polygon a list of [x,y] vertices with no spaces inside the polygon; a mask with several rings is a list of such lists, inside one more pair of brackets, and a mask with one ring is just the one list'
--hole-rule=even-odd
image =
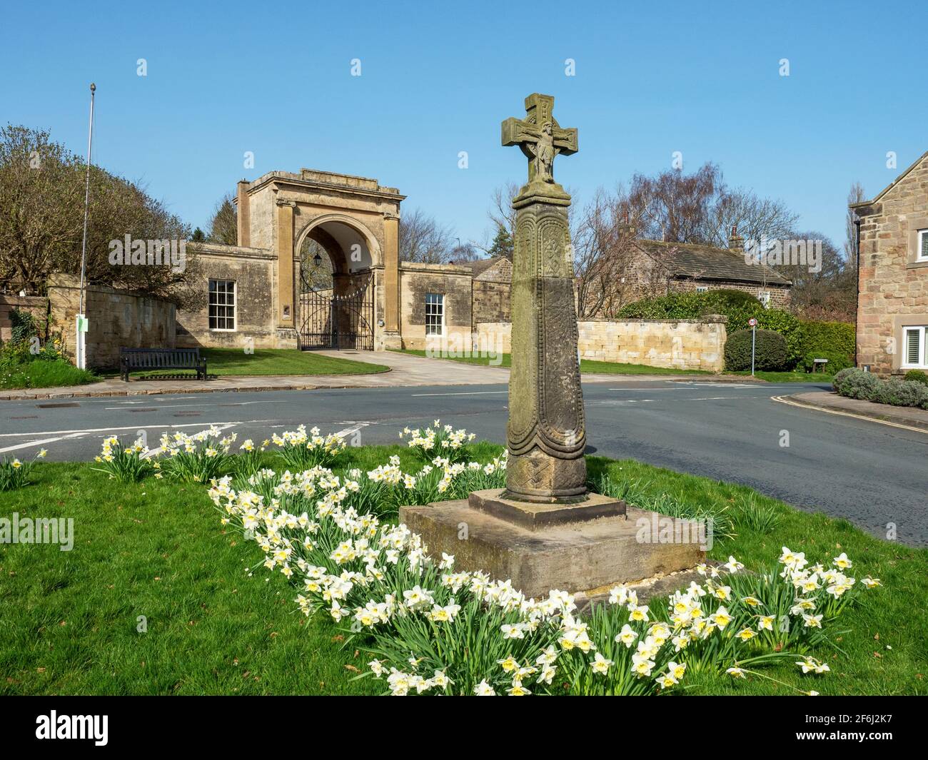
{"label": "whole carved stone cross monument with its stepped base", "polygon": [[[576,152],[577,132],[561,129],[553,106],[553,97],[530,95],[525,119],[503,122],[503,145],[518,145],[529,160],[528,182],[512,200],[506,488],[402,507],[400,521],[422,536],[432,557],[453,554],[456,568],[509,578],[527,596],[561,588],[596,598],[625,582],[640,582],[645,594],[657,587],[651,581],[692,568],[705,554],[691,542],[656,541],[642,528],[664,520],[675,531],[683,521],[586,490],[571,197],[554,179],[554,160]],[[677,581],[684,578],[689,582],[685,574]]]}

